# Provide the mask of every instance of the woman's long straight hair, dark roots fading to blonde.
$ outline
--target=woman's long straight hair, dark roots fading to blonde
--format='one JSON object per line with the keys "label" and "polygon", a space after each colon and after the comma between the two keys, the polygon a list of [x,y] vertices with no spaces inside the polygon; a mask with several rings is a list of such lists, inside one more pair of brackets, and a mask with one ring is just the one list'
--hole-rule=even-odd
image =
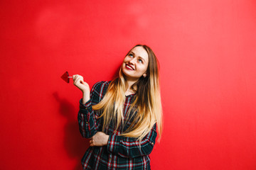
{"label": "woman's long straight hair, dark roots fading to blonde", "polygon": [[92,108],[95,111],[102,111],[100,118],[103,117],[102,130],[105,132],[112,121],[114,121],[115,130],[117,130],[120,126],[124,127],[125,123],[133,118],[132,124],[129,125],[129,128],[127,128],[122,136],[137,137],[137,140],[141,141],[156,123],[160,140],[163,121],[159,86],[159,62],[150,47],[146,45],[136,45],[134,47],[138,46],[144,47],[144,50],[148,53],[149,65],[146,70],[147,76],[140,77],[132,85],[134,91],[135,88],[137,89],[136,96],[126,115],[127,119],[125,119],[125,122],[123,107],[125,101],[124,93],[127,85],[125,83],[125,75],[122,72],[122,66],[119,69],[119,77],[110,83],[102,101],[92,106]]}

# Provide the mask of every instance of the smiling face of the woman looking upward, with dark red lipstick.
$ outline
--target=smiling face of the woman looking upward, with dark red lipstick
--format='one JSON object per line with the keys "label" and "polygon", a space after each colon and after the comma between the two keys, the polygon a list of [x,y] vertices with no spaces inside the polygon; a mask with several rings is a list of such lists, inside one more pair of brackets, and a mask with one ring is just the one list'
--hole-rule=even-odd
{"label": "smiling face of the woman looking upward, with dark red lipstick", "polygon": [[122,72],[127,77],[137,81],[142,76],[147,76],[146,69],[149,65],[149,55],[143,47],[134,47],[122,63]]}

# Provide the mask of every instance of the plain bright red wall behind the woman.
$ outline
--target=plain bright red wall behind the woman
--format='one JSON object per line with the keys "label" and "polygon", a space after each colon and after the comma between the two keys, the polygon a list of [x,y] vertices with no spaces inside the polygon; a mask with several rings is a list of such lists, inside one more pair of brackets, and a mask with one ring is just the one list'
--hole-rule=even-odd
{"label": "plain bright red wall behind the woman", "polygon": [[0,169],[80,169],[82,93],[128,50],[161,64],[152,169],[256,169],[256,1],[1,1]]}

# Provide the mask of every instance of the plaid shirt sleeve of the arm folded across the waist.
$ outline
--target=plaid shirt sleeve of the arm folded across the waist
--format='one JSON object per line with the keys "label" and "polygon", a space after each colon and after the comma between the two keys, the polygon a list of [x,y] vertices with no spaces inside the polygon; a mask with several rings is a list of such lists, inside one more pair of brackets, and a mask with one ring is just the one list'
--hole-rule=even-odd
{"label": "plaid shirt sleeve of the arm folded across the waist", "polygon": [[107,151],[118,154],[121,157],[141,157],[149,155],[156,140],[156,124],[149,133],[142,139],[139,147],[139,140],[135,137],[124,137],[112,134],[107,142]]}

